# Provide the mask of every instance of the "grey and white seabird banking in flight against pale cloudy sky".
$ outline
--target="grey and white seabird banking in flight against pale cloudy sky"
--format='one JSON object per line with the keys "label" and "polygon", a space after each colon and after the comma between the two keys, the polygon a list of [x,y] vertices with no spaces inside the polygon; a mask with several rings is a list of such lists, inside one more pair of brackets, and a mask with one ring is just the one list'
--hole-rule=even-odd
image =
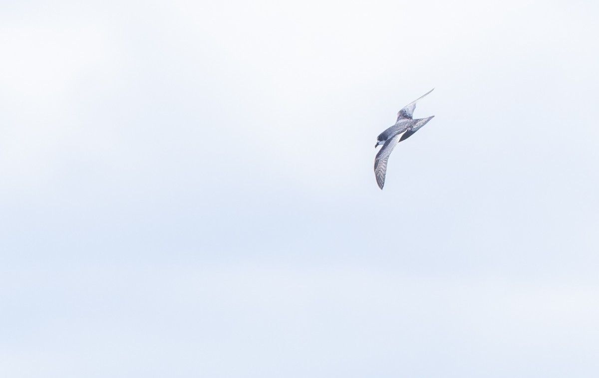
{"label": "grey and white seabird banking in flight against pale cloudy sky", "polygon": [[423,97],[433,90],[434,88],[404,106],[397,112],[397,121],[395,121],[395,124],[377,136],[377,142],[374,145],[374,148],[377,148],[379,145],[383,145],[383,147],[380,149],[379,153],[376,154],[376,158],[374,158],[374,176],[376,176],[376,182],[381,190],[383,190],[383,185],[385,185],[387,161],[395,146],[399,142],[410,138],[410,136],[414,135],[420,127],[424,126],[428,121],[435,117],[434,115],[431,115],[431,117],[419,118],[416,120],[412,118],[414,109],[416,109],[416,102],[423,99]]}

